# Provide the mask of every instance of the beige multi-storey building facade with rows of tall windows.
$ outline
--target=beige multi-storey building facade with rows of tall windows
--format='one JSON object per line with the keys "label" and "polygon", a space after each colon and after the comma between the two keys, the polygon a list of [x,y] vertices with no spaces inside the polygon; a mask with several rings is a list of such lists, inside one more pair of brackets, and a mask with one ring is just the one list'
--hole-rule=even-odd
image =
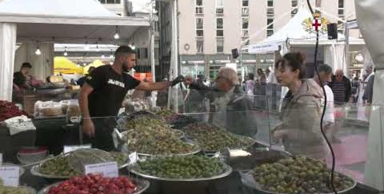
{"label": "beige multi-storey building facade with rows of tall windows", "polygon": [[[214,78],[217,70],[227,63],[237,63],[240,70],[239,58],[233,59],[231,50],[256,44],[272,35],[295,16],[300,6],[307,7],[306,0],[178,0],[180,73]],[[340,33],[344,33],[344,27],[338,18],[356,18],[353,0],[316,0],[312,6],[323,11],[322,16],[330,22],[338,23]],[[171,32],[169,4],[161,2],[157,9],[161,50],[165,50],[161,56],[167,63]],[[359,32],[350,35],[359,37]],[[253,73],[257,68],[271,68],[274,53],[243,53],[242,59],[245,72]]]}

